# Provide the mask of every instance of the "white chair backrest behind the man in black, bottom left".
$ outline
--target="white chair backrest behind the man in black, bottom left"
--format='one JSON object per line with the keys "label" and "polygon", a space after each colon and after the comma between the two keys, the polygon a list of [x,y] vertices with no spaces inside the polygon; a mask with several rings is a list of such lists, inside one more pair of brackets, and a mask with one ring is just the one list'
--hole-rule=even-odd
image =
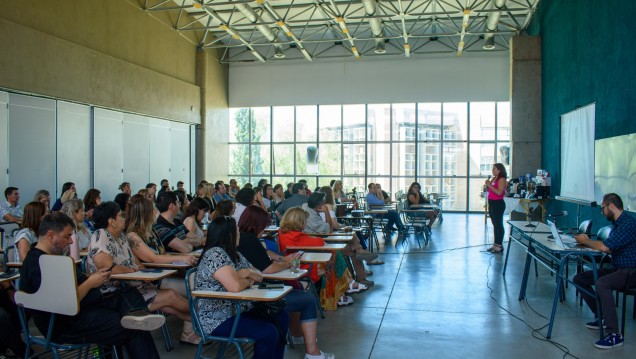
{"label": "white chair backrest behind the man in black, bottom left", "polygon": [[75,262],[68,256],[40,257],[42,282],[33,294],[18,291],[15,303],[19,306],[48,313],[76,315],[79,312]]}

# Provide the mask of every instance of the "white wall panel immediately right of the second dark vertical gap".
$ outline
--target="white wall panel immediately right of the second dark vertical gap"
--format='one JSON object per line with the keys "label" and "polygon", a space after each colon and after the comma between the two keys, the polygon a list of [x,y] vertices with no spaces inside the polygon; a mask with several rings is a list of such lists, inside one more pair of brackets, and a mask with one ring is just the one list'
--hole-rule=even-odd
{"label": "white wall panel immediately right of the second dark vertical gap", "polygon": [[94,182],[103,201],[112,201],[123,182],[123,114],[95,108]]}

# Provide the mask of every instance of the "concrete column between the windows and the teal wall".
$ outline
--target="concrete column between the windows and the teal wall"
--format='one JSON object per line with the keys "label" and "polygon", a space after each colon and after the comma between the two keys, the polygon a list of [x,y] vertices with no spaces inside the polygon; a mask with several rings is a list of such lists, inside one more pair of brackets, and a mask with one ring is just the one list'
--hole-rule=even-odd
{"label": "concrete column between the windows and the teal wall", "polygon": [[541,38],[510,43],[511,156],[509,177],[541,168]]}

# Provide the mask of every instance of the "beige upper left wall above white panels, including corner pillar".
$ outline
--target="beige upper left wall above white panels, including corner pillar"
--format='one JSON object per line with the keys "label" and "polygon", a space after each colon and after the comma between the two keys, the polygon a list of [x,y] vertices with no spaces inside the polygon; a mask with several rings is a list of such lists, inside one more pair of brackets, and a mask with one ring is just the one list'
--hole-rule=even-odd
{"label": "beige upper left wall above white panels, including corner pillar", "polygon": [[205,53],[206,72],[197,74],[196,34],[172,29],[174,13],[140,3],[0,0],[0,88],[201,124],[197,168],[227,177],[224,166],[209,174],[205,162],[227,163],[227,66]]}

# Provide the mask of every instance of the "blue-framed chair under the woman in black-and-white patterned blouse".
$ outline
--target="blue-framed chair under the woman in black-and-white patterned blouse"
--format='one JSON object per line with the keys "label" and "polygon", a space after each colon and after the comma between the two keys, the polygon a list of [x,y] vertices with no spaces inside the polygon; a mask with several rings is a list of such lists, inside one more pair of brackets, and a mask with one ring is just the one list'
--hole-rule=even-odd
{"label": "blue-framed chair under the woman in black-and-white patterned blouse", "polygon": [[211,343],[213,341],[222,342],[222,345],[219,347],[219,350],[216,353],[217,358],[223,358],[223,354],[225,353],[225,349],[228,344],[234,344],[236,347],[236,351],[239,354],[241,359],[245,358],[243,354],[243,348],[241,348],[241,344],[254,343],[254,339],[251,338],[236,338],[234,334],[236,333],[236,327],[239,322],[239,315],[237,315],[234,320],[234,325],[232,326],[232,331],[230,332],[229,337],[219,337],[214,335],[209,335],[203,331],[203,327],[201,326],[201,322],[199,321],[199,312],[198,312],[198,301],[199,298],[195,298],[192,296],[192,289],[194,288],[194,276],[197,273],[197,268],[190,268],[186,272],[185,275],[185,285],[186,285],[186,294],[188,295],[188,305],[190,306],[190,316],[192,317],[192,327],[194,332],[201,337],[201,341],[197,346],[197,353],[194,356],[195,359],[201,358],[201,354],[203,354],[203,346]]}

